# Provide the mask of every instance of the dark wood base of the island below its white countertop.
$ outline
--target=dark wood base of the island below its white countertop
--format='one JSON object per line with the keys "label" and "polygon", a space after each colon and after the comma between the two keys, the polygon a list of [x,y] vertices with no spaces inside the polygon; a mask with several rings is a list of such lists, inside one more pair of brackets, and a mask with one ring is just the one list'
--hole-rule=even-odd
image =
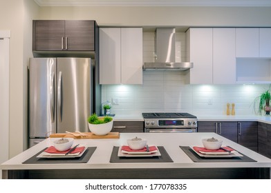
{"label": "dark wood base of the island below its white countertop", "polygon": [[270,179],[268,167],[8,170],[7,179]]}

